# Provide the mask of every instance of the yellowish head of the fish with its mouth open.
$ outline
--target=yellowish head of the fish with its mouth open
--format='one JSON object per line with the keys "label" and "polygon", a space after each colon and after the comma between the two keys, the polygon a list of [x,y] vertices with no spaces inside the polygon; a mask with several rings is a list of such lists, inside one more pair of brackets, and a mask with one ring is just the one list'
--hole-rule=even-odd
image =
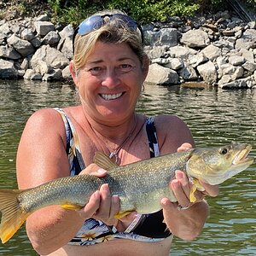
{"label": "yellowish head of the fish with its mouth open", "polygon": [[254,158],[248,157],[251,149],[251,145],[241,143],[220,148],[195,148],[186,171],[190,177],[211,185],[223,183],[253,164]]}

